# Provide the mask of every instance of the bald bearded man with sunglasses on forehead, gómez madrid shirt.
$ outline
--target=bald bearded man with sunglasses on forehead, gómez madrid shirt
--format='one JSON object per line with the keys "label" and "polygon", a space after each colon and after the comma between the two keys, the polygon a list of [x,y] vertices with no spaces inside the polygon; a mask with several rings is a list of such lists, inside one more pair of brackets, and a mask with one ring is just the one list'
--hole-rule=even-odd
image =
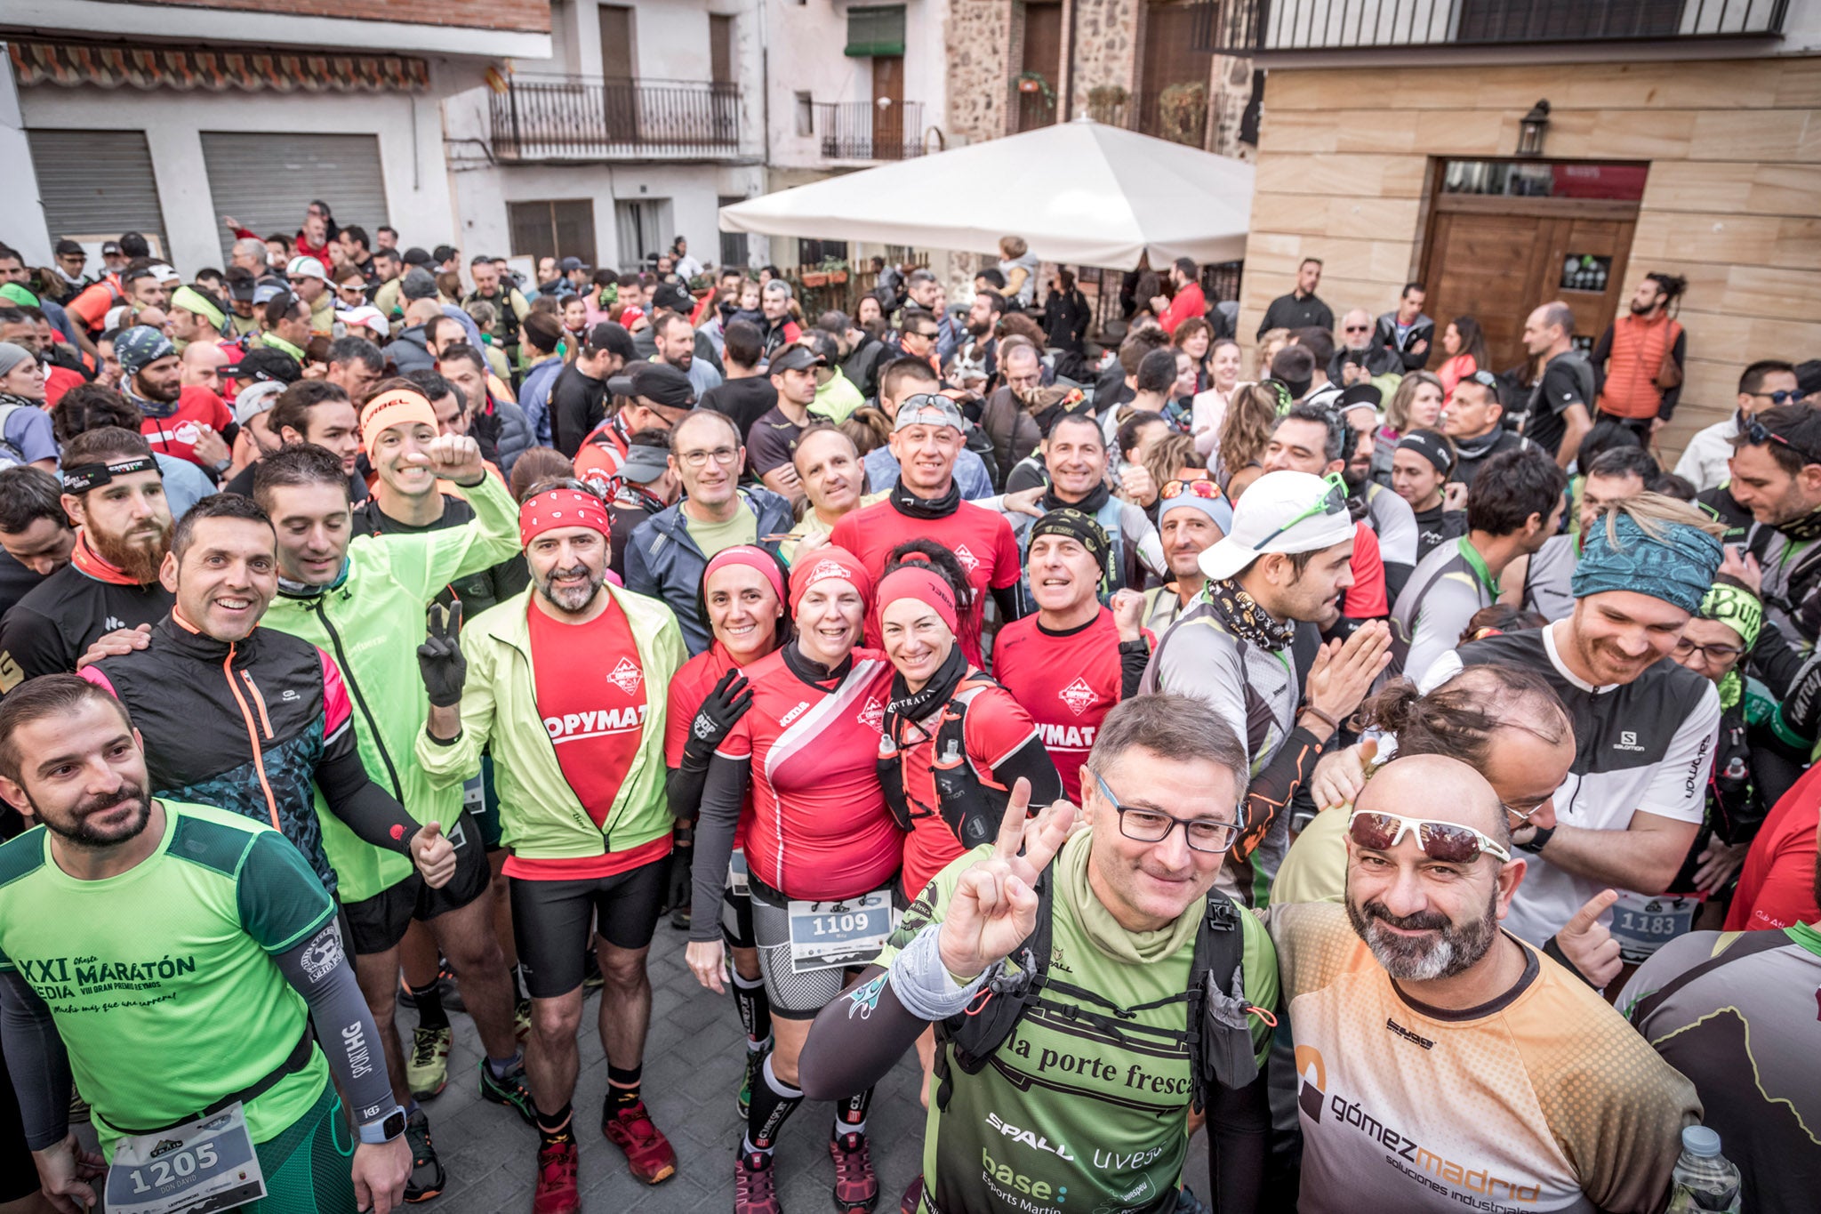
{"label": "bald bearded man with sunglasses on forehead, g\u00f3mez madrid shirt", "polygon": [[1408,755],[1348,815],[1346,905],[1271,908],[1304,1214],[1663,1209],[1701,1101],[1501,928],[1526,868],[1486,777]]}

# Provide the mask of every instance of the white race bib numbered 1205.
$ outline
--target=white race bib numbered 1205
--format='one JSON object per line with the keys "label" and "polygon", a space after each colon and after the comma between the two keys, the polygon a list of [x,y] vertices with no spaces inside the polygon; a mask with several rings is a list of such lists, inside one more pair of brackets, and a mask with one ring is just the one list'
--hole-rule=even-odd
{"label": "white race bib numbered 1205", "polygon": [[122,1138],[107,1167],[109,1214],[231,1210],[264,1196],[240,1101],[158,1134]]}

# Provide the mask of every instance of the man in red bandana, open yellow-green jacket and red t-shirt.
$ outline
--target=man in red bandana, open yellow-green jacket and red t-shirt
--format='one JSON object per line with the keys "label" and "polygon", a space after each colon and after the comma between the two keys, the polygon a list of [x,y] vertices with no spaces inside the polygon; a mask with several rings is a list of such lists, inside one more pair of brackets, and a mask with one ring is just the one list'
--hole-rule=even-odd
{"label": "man in red bandana, open yellow-green jacket and red t-shirt", "polygon": [[683,666],[683,633],[661,602],[608,582],[610,533],[606,506],[579,488],[526,499],[519,541],[530,588],[472,621],[461,646],[432,635],[419,652],[426,683],[443,688],[417,739],[424,774],[453,788],[481,768],[483,750],[495,759],[514,934],[532,992],[535,1214],[581,1209],[570,1098],[595,916],[606,979],[601,1132],[648,1185],[677,1167],[641,1099],[639,1074],[652,1017],[645,957],[668,885],[674,821],[665,801],[665,688]]}

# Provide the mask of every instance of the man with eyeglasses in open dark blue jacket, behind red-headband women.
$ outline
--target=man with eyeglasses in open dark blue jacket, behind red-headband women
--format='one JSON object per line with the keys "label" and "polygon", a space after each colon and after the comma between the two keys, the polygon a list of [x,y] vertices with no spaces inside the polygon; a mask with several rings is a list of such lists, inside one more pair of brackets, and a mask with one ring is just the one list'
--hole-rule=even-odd
{"label": "man with eyeglasses in open dark blue jacket, behind red-headband women", "polygon": [[626,542],[626,590],[663,599],[676,612],[690,655],[714,641],[701,617],[708,561],[736,544],[778,551],[794,526],[783,497],[759,486],[739,488],[745,460],[732,419],[714,410],[688,413],[670,430],[670,471],[683,484],[683,501],[641,522]]}

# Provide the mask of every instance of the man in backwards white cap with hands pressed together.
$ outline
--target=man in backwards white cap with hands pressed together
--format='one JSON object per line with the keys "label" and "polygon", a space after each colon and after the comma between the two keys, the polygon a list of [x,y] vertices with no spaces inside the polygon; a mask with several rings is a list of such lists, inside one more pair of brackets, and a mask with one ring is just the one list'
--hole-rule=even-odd
{"label": "man in backwards white cap with hands pressed together", "polygon": [[1380,621],[1326,648],[1306,628],[1329,619],[1353,584],[1353,542],[1338,477],[1258,477],[1227,535],[1202,553],[1207,584],[1158,641],[1138,688],[1195,695],[1246,741],[1247,832],[1235,850],[1246,863],[1222,879],[1258,903],[1289,848],[1286,806],[1391,659]]}

